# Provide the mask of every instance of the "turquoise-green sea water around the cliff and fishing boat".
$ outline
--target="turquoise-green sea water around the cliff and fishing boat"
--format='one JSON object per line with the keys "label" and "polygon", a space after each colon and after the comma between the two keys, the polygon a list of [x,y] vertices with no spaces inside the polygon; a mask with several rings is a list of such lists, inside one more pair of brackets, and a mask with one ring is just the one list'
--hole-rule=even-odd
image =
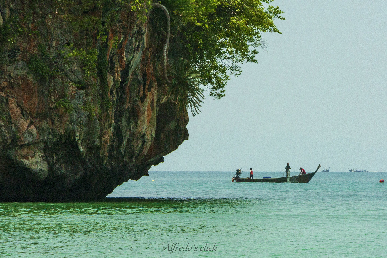
{"label": "turquoise-green sea water around the cliff and fishing boat", "polygon": [[[154,174],[110,195],[137,198],[0,203],[0,257],[387,257],[385,173],[317,173],[307,184]],[[282,172],[254,173],[267,175]],[[172,243],[192,249],[170,253]],[[216,250],[200,251],[206,243]]]}

